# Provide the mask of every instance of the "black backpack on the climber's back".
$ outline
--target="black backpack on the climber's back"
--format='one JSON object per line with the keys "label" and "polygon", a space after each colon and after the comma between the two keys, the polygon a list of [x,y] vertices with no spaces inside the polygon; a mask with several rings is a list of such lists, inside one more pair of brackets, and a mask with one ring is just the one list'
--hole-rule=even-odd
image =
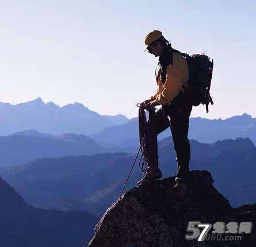
{"label": "black backpack on the climber's back", "polygon": [[213,59],[205,54],[193,54],[190,56],[187,53],[179,52],[173,48],[169,49],[167,53],[177,52],[186,58],[189,68],[189,84],[188,88],[184,87],[185,93],[189,97],[192,105],[205,105],[206,111],[209,112],[208,105],[213,105],[212,97],[210,96]]}

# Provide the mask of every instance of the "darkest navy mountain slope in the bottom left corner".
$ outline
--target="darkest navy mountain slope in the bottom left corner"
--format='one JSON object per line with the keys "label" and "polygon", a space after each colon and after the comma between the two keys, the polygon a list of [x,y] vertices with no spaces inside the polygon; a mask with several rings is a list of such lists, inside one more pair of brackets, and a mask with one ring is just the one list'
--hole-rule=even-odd
{"label": "darkest navy mountain slope in the bottom left corner", "polygon": [[85,246],[98,221],[86,211],[37,209],[0,178],[0,241],[4,247]]}

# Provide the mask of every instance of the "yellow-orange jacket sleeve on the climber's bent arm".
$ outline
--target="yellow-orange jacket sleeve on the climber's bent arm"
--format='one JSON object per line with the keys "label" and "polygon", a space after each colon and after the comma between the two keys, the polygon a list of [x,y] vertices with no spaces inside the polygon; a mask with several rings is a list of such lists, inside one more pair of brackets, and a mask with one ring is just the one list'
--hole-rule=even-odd
{"label": "yellow-orange jacket sleeve on the climber's bent arm", "polygon": [[159,104],[165,105],[173,101],[181,91],[185,66],[185,58],[178,53],[173,53],[173,64],[169,64],[166,68],[166,81],[163,84],[163,91],[155,98]]}

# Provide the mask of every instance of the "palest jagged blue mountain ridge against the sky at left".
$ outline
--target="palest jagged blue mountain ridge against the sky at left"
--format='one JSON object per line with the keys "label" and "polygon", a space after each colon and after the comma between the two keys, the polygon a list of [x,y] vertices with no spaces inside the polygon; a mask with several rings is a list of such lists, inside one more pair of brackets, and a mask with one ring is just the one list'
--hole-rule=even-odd
{"label": "palest jagged blue mountain ridge against the sky at left", "polygon": [[41,98],[17,105],[0,103],[0,115],[0,135],[24,130],[88,135],[114,126],[120,120],[120,116],[113,116],[112,121],[111,117],[101,116],[79,103],[59,107],[52,102],[45,104]]}

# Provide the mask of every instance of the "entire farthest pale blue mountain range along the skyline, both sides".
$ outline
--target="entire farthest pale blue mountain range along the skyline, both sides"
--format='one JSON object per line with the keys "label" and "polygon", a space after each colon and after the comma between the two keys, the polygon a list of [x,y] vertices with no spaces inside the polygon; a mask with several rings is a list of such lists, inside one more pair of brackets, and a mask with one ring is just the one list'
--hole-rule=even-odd
{"label": "entire farthest pale blue mountain range along the skyline, both sides", "polygon": [[[193,111],[193,110],[192,110]],[[41,98],[17,105],[0,103],[0,136],[35,130],[51,135],[72,133],[92,138],[102,147],[116,151],[135,152],[139,142],[138,119],[124,115],[100,115],[83,104],[63,107]],[[189,139],[202,143],[217,140],[250,138],[256,143],[256,118],[244,113],[227,119],[190,117]],[[159,135],[159,140],[170,136],[170,129]]]}

